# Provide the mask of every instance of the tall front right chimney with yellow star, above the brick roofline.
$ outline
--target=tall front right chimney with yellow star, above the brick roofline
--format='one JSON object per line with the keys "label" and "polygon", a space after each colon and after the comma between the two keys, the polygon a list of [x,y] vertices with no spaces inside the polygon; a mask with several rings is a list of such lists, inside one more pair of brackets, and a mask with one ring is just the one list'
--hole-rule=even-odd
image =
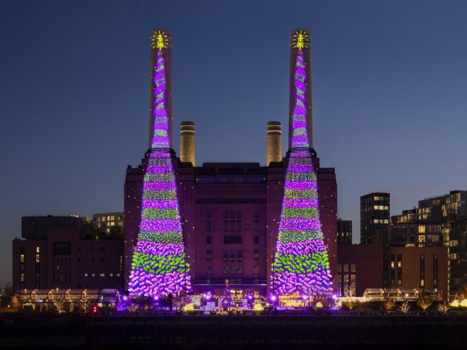
{"label": "tall front right chimney with yellow star, above the brick roofline", "polygon": [[310,31],[290,33],[288,148],[313,148]]}

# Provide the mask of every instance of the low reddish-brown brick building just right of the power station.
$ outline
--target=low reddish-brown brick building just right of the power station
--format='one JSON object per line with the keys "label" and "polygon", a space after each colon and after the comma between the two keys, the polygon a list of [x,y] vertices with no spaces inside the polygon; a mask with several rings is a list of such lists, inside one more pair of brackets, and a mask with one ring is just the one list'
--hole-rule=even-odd
{"label": "low reddish-brown brick building just right of the power station", "polygon": [[361,297],[367,288],[433,289],[448,299],[444,246],[338,245],[338,294]]}

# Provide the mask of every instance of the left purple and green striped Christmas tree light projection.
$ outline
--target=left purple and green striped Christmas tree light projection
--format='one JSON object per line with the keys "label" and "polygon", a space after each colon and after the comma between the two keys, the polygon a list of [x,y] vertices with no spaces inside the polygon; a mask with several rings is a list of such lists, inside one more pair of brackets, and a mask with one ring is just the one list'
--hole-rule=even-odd
{"label": "left purple and green striped Christmas tree light projection", "polygon": [[191,290],[169,149],[167,76],[162,49],[163,46],[157,52],[154,68],[152,149],[144,169],[140,232],[128,283],[130,297],[177,297]]}

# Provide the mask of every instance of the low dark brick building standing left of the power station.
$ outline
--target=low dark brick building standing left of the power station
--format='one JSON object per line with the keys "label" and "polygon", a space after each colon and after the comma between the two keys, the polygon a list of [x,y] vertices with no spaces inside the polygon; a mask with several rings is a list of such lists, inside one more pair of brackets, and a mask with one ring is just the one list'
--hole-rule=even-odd
{"label": "low dark brick building standing left of the power station", "polygon": [[[22,218],[22,222],[27,225],[23,228],[28,229],[32,222],[37,220],[35,218],[41,217]],[[53,227],[46,227],[37,236],[42,239],[13,240],[14,289],[123,289],[123,240],[81,239],[83,230],[81,218],[76,216],[46,218],[51,223],[56,219],[55,224],[66,222],[68,227],[49,225]]]}

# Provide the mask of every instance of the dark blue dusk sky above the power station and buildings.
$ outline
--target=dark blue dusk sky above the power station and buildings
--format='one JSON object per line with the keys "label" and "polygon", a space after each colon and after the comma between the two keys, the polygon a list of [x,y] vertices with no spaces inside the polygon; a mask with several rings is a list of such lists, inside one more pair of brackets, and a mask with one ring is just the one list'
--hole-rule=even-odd
{"label": "dark blue dusk sky above the power station and buildings", "polygon": [[152,28],[172,32],[177,152],[192,120],[199,163],[264,163],[266,122],[287,128],[289,31],[305,27],[315,149],[354,241],[362,194],[391,192],[396,214],[465,189],[466,18],[466,1],[2,1],[0,282],[21,216],[123,210]]}

